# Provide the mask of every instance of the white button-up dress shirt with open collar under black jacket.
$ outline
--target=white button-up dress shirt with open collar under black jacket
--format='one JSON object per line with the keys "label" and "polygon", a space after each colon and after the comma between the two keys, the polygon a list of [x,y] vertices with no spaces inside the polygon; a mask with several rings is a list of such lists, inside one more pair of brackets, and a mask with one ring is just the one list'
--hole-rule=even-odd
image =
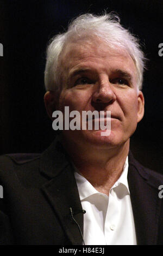
{"label": "white button-up dress shirt with open collar under black jacket", "polygon": [[136,245],[127,174],[128,157],[108,197],[75,172],[80,200],[86,211],[83,235],[85,245]]}

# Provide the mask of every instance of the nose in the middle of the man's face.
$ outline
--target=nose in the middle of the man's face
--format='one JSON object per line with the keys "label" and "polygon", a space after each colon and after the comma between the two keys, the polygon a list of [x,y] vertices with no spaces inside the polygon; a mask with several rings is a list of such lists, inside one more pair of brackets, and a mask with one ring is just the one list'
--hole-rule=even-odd
{"label": "nose in the middle of the man's face", "polygon": [[116,100],[116,95],[108,78],[101,79],[95,88],[92,96],[93,103],[112,104]]}

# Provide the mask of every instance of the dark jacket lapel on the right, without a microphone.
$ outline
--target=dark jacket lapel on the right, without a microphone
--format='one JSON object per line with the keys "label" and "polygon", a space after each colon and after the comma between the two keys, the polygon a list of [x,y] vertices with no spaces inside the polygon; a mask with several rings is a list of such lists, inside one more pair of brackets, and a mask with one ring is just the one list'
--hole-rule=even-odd
{"label": "dark jacket lapel on the right, without a microphone", "polygon": [[158,184],[129,154],[128,183],[138,245],[156,245],[161,200]]}

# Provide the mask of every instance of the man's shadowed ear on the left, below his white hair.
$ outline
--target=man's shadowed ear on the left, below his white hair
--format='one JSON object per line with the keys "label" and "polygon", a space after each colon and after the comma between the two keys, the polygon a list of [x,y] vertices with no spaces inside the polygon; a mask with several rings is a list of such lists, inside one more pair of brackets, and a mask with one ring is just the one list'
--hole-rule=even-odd
{"label": "man's shadowed ear on the left, below his white hair", "polygon": [[44,103],[49,118],[53,120],[52,114],[56,110],[57,106],[55,93],[50,91],[46,92],[44,96]]}

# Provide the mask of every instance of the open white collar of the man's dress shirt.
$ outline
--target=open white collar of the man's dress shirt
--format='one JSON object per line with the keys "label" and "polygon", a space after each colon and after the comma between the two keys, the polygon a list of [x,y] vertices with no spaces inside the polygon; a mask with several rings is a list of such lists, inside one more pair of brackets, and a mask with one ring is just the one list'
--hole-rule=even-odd
{"label": "open white collar of the man's dress shirt", "polygon": [[[80,175],[75,166],[74,166],[74,169],[75,169],[74,176],[75,176],[76,181],[77,181],[80,200],[84,200],[85,198],[90,197],[93,194],[103,194],[103,193],[98,192],[92,186],[92,184],[89,181],[86,180],[85,177]],[[128,181],[127,181],[127,175],[128,175],[128,156],[127,156],[126,161],[124,163],[123,171],[122,171],[122,174],[121,174],[120,178],[118,178],[118,180],[115,182],[115,184],[111,187],[110,191],[112,189],[116,188],[117,186],[120,186],[120,184],[123,184],[123,187],[125,186],[127,188],[127,193],[130,194],[129,193]]]}

